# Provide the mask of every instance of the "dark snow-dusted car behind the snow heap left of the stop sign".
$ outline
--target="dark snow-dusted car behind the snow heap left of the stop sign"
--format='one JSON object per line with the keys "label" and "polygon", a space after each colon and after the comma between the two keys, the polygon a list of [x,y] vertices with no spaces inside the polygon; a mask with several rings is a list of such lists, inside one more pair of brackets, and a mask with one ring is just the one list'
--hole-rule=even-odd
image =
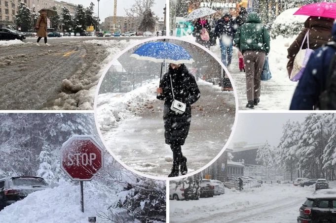
{"label": "dark snow-dusted car behind the snow heap left of the stop sign", "polygon": [[20,176],[0,179],[0,210],[28,194],[49,188],[41,177]]}

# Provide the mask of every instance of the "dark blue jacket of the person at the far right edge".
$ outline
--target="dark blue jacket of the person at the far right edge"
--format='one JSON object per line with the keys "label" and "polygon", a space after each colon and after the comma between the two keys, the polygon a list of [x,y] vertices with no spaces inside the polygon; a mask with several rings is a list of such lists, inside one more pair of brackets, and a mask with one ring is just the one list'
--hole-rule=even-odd
{"label": "dark blue jacket of the person at the far right edge", "polygon": [[[336,41],[336,24],[332,29]],[[326,89],[328,70],[336,53],[332,46],[324,46],[311,54],[292,98],[290,110],[312,110],[319,107],[319,96]]]}

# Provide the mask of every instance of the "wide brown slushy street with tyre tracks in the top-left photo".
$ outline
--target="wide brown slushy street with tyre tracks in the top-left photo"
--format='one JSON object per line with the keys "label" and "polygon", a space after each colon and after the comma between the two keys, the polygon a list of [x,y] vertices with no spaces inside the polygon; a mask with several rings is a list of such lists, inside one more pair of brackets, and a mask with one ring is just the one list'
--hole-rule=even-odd
{"label": "wide brown slushy street with tyre tracks in the top-left photo", "polygon": [[55,37],[50,46],[37,46],[36,38],[0,41],[1,109],[92,109],[100,70],[139,38],[107,39]]}

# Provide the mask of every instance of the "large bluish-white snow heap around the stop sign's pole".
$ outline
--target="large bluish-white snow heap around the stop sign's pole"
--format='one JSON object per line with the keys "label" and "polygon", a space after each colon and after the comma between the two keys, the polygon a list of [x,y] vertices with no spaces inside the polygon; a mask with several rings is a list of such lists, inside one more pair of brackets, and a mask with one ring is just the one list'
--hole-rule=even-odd
{"label": "large bluish-white snow heap around the stop sign's pole", "polygon": [[[25,199],[5,207],[0,212],[1,222],[15,223],[83,223],[88,217],[108,212],[115,195],[111,191],[90,188],[84,182],[84,213],[80,211],[80,187],[67,182],[44,191],[36,191]],[[15,214],[13,214],[15,213]],[[97,218],[98,222],[99,218]]]}

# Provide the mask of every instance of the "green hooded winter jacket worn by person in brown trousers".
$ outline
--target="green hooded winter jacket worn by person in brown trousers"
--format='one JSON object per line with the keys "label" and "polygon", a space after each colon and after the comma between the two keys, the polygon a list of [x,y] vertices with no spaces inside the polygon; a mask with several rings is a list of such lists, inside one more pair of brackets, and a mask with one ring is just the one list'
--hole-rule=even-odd
{"label": "green hooded winter jacket worn by person in brown trousers", "polygon": [[241,25],[234,35],[234,45],[244,53],[246,50],[265,51],[269,53],[269,33],[261,24],[259,15],[256,12],[251,12],[246,23]]}

